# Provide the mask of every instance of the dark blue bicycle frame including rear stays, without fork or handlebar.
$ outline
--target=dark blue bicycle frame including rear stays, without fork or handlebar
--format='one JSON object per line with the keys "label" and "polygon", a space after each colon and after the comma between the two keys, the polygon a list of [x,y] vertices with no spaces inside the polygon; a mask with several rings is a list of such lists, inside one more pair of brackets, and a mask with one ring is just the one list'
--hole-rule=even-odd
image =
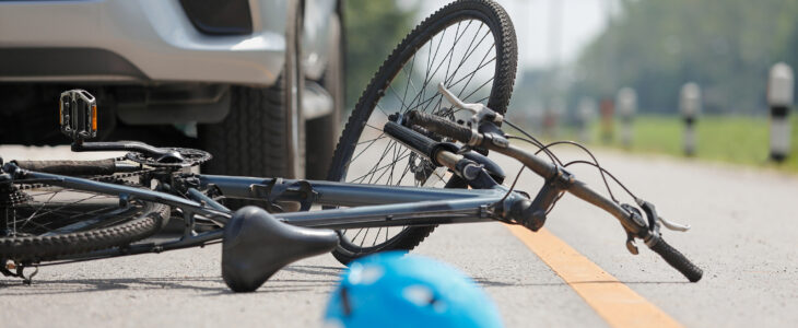
{"label": "dark blue bicycle frame including rear stays, without fork or handlebar", "polygon": [[[22,169],[21,173],[26,180],[39,180],[63,188],[116,195],[122,200],[138,199],[161,202],[183,212],[186,227],[179,238],[139,242],[128,247],[66,257],[62,259],[66,261],[201,247],[219,242],[224,232],[224,224],[232,216],[231,210],[196,188],[188,188],[187,198],[184,198],[163,191],[70,176]],[[303,201],[303,197],[301,191],[285,189],[285,192],[270,198],[268,194],[258,194],[260,187],[307,186],[316,195],[314,204],[352,208],[274,213],[274,216],[292,225],[335,230],[495,221],[502,218],[492,211],[493,204],[500,201],[513,202],[523,197],[515,192],[507,195],[507,188],[501,185],[495,185],[490,189],[443,189],[222,175],[192,175],[190,177],[198,178],[200,188],[218,188],[227,197],[267,201]],[[168,188],[168,186],[166,187]],[[221,227],[196,233],[193,231],[196,215],[214,221]]]}

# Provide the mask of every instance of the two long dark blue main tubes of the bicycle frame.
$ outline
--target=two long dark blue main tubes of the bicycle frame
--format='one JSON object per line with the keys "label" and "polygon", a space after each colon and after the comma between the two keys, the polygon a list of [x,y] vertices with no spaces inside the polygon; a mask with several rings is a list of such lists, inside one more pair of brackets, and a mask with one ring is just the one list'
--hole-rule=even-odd
{"label": "two long dark blue main tubes of the bicycle frame", "polygon": [[[200,180],[203,186],[216,186],[223,195],[250,199],[259,198],[253,195],[253,186],[266,186],[275,181],[275,179],[230,176],[200,176]],[[314,202],[316,204],[354,208],[275,213],[274,216],[293,225],[336,230],[489,221],[491,219],[486,213],[486,207],[500,201],[507,192],[503,186],[495,186],[492,189],[441,189],[322,180],[282,180],[283,185],[298,183],[307,183],[318,192]],[[301,199],[296,192],[286,192],[277,200]]]}

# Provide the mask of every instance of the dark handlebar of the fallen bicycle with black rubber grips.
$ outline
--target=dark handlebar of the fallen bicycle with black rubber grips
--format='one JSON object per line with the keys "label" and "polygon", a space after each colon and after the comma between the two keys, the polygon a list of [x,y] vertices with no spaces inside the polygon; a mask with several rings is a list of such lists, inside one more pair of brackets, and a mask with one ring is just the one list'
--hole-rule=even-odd
{"label": "dark handlebar of the fallen bicycle with black rubber grips", "polygon": [[[507,144],[506,140],[497,142],[498,138],[504,139],[503,136],[488,136],[488,133],[482,134],[469,129],[468,127],[457,125],[448,119],[425,113],[410,112],[408,113],[408,119],[410,124],[418,125],[429,131],[453,138],[473,147],[482,147],[496,151],[516,159],[547,180],[555,178],[561,169],[559,166],[548,163],[540,157],[530,154],[528,151]],[[431,155],[434,156],[434,154]],[[666,243],[658,233],[649,231],[645,221],[635,220],[632,213],[621,208],[614,201],[607,199],[588,188],[584,183],[576,179],[570,181],[568,187],[565,190],[615,216],[627,233],[646,239],[647,245],[652,250],[662,257],[668,265],[684,274],[684,277],[686,277],[691,282],[696,282],[702,278],[703,271],[699,267],[693,265],[679,250]]]}

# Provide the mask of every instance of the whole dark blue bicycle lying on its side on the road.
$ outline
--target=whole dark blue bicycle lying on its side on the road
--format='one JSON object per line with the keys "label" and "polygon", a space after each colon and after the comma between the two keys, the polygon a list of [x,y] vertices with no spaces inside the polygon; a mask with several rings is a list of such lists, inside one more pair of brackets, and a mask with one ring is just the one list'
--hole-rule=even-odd
{"label": "whole dark blue bicycle lying on its side on the road", "polygon": [[[96,101],[82,90],[64,92],[61,131],[72,138],[73,151],[128,153],[101,161],[4,163],[0,272],[30,282],[36,272],[25,273],[31,267],[221,242],[225,282],[234,291],[253,291],[305,257],[332,251],[348,263],[377,251],[412,249],[438,224],[498,221],[538,231],[560,197],[571,192],[618,219],[631,253],[637,254],[634,242],[642,239],[699,281],[702,270],[660,234],[660,225],[684,226],[661,219],[625,187],[634,204],[620,203],[609,185],[610,198],[594,191],[566,166],[590,164],[605,184],[606,176],[614,179],[595,157],[563,164],[550,150],[558,143],[544,145],[505,119],[516,49],[512,22],[494,2],[457,1],[427,17],[363,93],[329,180],[197,174],[190,167],[211,159],[201,150],[87,142],[97,131]],[[505,133],[502,125],[520,137]],[[530,197],[515,183],[502,185],[504,171],[489,152],[523,163],[543,178],[542,188]],[[260,207],[233,211],[225,206],[230,199]],[[156,236],[171,221],[180,223],[181,233]]]}

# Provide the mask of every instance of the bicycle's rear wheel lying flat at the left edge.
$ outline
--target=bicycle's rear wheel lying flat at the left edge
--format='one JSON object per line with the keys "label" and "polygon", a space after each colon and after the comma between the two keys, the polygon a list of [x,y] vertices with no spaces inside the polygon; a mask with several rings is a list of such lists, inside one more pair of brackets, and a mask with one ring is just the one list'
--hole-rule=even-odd
{"label": "bicycle's rear wheel lying flat at the left edge", "polygon": [[8,188],[0,192],[0,259],[37,262],[125,246],[169,218],[168,206],[133,199],[122,208],[117,196],[97,191],[40,181]]}

